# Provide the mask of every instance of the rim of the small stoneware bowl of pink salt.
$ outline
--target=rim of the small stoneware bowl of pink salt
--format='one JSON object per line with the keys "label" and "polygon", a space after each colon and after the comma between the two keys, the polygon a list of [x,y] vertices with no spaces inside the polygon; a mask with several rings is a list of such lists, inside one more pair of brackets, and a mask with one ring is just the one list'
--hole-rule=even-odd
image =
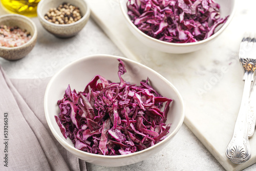
{"label": "rim of the small stoneware bowl of pink salt", "polygon": [[[17,47],[2,47],[2,46],[0,46],[0,49],[15,50],[15,49],[26,48],[29,44],[32,44],[32,42],[34,42],[37,38],[37,28],[36,28],[35,23],[29,17],[24,16],[24,15],[20,15],[20,14],[5,14],[5,15],[0,16],[0,18],[5,18],[5,17],[9,17],[9,16],[16,16],[18,18],[26,19],[32,25],[32,27],[34,29],[34,33],[33,33],[33,36],[31,37],[31,39],[23,45],[20,45],[20,46],[17,46]],[[24,29],[26,29],[26,28],[24,28]]]}

